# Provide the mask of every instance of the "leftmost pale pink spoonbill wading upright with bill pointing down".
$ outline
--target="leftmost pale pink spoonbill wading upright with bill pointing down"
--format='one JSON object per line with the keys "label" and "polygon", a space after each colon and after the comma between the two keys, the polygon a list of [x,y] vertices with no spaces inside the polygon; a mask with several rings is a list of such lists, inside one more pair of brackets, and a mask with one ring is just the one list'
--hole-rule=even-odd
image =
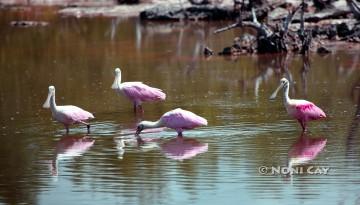
{"label": "leftmost pale pink spoonbill wading upright with bill pointing down", "polygon": [[49,86],[49,94],[43,108],[50,108],[52,117],[58,122],[64,124],[66,133],[69,133],[70,125],[77,123],[86,125],[88,132],[90,132],[90,124],[86,123],[86,121],[93,119],[94,115],[73,105],[57,106],[55,102],[54,86]]}

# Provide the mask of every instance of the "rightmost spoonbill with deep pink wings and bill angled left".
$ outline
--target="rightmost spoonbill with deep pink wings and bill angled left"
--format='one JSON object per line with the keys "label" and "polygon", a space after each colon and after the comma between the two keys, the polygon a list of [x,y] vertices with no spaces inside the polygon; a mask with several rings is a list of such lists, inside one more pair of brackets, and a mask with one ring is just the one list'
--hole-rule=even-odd
{"label": "rightmost spoonbill with deep pink wings and bill angled left", "polygon": [[303,131],[306,131],[306,123],[311,120],[317,120],[325,118],[326,114],[314,103],[306,100],[297,100],[289,98],[289,81],[286,78],[280,80],[279,87],[274,91],[270,96],[270,99],[275,99],[276,94],[281,88],[284,88],[284,105],[286,111],[290,116],[297,119],[303,128]]}

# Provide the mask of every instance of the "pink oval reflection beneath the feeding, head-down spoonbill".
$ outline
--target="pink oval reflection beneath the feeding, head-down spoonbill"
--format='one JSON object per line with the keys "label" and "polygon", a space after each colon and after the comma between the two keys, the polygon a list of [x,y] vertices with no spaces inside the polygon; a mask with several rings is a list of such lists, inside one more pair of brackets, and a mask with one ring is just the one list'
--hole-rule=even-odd
{"label": "pink oval reflection beneath the feeding, head-down spoonbill", "polygon": [[208,151],[208,144],[196,139],[176,137],[160,145],[167,158],[184,160]]}

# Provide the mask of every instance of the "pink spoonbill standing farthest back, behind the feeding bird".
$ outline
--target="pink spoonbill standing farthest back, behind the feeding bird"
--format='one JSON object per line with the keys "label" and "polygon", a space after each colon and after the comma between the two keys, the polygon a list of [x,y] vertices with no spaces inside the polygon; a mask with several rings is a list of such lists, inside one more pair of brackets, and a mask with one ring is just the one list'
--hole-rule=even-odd
{"label": "pink spoonbill standing farthest back, behind the feeding bird", "polygon": [[150,87],[142,82],[121,83],[120,68],[115,69],[115,80],[111,88],[116,90],[117,93],[123,94],[133,102],[134,112],[136,112],[137,108],[143,111],[141,106],[142,102],[162,101],[166,98],[166,95],[162,90]]}

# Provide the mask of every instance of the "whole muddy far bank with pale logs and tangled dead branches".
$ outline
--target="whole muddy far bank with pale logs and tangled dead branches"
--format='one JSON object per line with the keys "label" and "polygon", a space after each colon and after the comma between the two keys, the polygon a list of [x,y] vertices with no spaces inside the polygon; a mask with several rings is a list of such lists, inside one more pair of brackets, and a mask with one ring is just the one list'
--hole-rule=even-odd
{"label": "whole muddy far bank with pale logs and tangled dead branches", "polygon": [[[24,1],[1,1],[14,5]],[[26,1],[28,2],[28,1]],[[241,55],[248,53],[332,52],[329,41],[360,42],[360,4],[355,0],[331,1],[245,1],[245,0],[127,0],[101,1],[34,1],[31,4],[62,4],[62,16],[140,17],[142,21],[210,21],[230,20],[214,33],[250,28],[252,33],[229,39],[222,51],[204,51],[206,55]],[[13,22],[13,26],[42,25],[34,22]],[[24,26],[24,27],[25,27]],[[255,33],[255,35],[254,35]],[[211,51],[211,52],[210,52]]]}

